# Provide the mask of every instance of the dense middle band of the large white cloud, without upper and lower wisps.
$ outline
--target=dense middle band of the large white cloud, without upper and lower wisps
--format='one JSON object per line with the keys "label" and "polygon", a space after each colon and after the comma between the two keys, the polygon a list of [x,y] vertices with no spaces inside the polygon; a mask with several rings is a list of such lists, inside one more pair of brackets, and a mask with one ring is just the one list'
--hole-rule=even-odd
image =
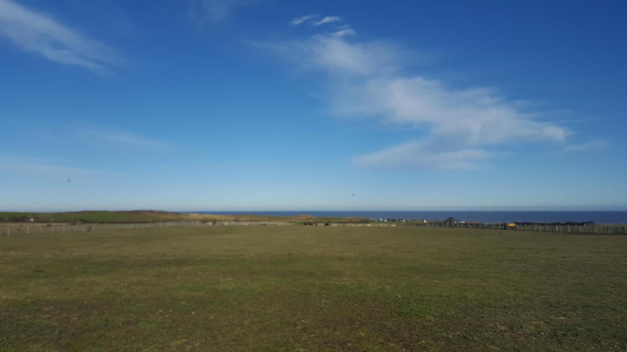
{"label": "dense middle band of the large white cloud, without upper and lower wisps", "polygon": [[569,134],[552,123],[535,121],[493,90],[453,90],[423,77],[369,78],[335,91],[334,100],[337,113],[380,116],[386,123],[428,128],[436,140],[460,146],[563,142]]}

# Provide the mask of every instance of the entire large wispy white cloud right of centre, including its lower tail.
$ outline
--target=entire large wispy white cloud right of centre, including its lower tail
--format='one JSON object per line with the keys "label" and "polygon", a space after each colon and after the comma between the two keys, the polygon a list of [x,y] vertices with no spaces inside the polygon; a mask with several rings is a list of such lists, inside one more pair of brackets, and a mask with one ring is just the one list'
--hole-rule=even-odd
{"label": "entire large wispy white cloud right of centre, including its lower tail", "polygon": [[257,44],[303,68],[325,73],[329,107],[336,115],[373,118],[427,134],[358,156],[353,160],[356,165],[481,168],[502,155],[498,148],[505,145],[564,143],[571,134],[556,123],[537,120],[536,114],[522,111],[496,90],[452,88],[440,80],[406,73],[408,55],[398,44],[349,40],[346,34],[354,32]]}

